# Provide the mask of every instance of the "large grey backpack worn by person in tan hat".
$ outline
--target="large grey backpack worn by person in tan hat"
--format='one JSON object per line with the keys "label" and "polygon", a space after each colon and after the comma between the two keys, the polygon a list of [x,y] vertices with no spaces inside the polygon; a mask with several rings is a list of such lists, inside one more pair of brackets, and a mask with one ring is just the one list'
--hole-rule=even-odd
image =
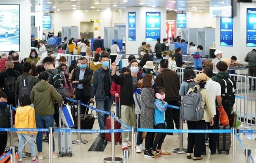
{"label": "large grey backpack worn by person in tan hat", "polygon": [[200,88],[194,92],[187,93],[181,103],[181,119],[187,121],[200,121],[204,116],[204,108],[201,106],[202,95],[200,91],[205,88]]}

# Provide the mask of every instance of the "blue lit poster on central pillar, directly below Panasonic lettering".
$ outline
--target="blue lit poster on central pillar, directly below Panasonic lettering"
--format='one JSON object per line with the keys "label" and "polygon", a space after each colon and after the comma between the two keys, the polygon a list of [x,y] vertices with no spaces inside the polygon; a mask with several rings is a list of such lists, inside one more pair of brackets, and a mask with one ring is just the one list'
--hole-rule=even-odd
{"label": "blue lit poster on central pillar, directly below Panasonic lettering", "polygon": [[146,12],[146,41],[156,41],[160,38],[160,12]]}

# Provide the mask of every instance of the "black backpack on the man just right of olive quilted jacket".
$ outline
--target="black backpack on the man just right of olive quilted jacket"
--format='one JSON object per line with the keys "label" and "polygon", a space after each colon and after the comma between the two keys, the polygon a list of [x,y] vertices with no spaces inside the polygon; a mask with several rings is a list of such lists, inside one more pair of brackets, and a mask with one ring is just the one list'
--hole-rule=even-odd
{"label": "black backpack on the man just right of olive quilted jacket", "polygon": [[50,74],[51,78],[49,80],[49,84],[53,85],[57,92],[62,96],[62,99],[66,99],[66,87],[65,81],[62,78],[61,71],[58,70],[57,74],[53,74],[52,71],[46,70],[48,74]]}

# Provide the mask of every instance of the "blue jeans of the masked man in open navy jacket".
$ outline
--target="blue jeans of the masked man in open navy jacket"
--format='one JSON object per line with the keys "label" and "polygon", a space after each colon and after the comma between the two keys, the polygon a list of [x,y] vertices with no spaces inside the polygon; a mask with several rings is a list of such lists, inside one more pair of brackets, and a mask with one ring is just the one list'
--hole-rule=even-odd
{"label": "blue jeans of the masked man in open navy jacket", "polygon": [[[110,112],[112,105],[111,96],[106,96],[105,100],[96,100],[96,103],[98,109]],[[105,129],[107,117],[109,117],[109,115],[98,112],[98,122],[101,130]]]}

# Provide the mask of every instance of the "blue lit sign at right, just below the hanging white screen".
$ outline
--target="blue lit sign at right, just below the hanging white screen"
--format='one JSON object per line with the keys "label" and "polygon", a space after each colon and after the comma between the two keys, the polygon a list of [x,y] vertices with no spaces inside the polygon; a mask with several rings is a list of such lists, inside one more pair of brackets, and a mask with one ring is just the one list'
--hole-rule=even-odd
{"label": "blue lit sign at right, just below the hanging white screen", "polygon": [[233,18],[220,18],[220,46],[233,46]]}

